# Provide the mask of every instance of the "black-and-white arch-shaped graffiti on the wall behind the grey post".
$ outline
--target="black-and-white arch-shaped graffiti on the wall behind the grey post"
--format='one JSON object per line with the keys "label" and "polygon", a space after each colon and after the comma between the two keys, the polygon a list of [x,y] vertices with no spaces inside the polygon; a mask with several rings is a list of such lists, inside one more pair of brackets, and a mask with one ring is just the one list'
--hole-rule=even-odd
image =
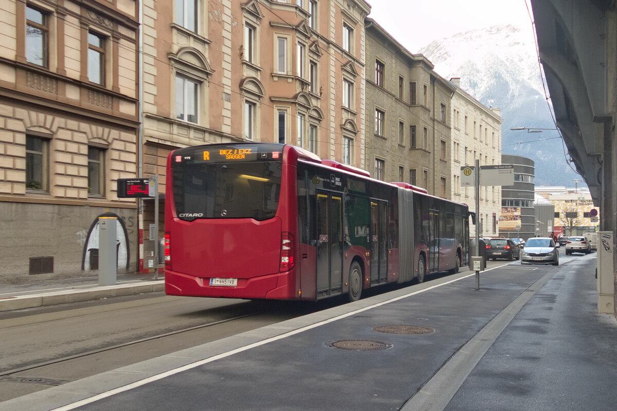
{"label": "black-and-white arch-shaped graffiti on the wall behind the grey post", "polygon": [[99,269],[99,217],[101,216],[113,216],[116,218],[117,267],[128,270],[130,262],[128,232],[126,232],[124,220],[114,213],[105,213],[97,216],[86,235],[83,234],[85,230],[77,233],[80,236],[78,242],[83,242],[81,270],[91,271]]}

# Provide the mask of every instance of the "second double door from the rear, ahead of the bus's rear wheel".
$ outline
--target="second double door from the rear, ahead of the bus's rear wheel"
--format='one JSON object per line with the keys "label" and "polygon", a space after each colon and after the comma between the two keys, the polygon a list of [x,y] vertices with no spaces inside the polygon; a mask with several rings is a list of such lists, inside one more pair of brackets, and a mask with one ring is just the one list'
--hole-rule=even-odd
{"label": "second double door from the rear, ahead of the bus's rear wheel", "polygon": [[387,279],[387,203],[371,200],[371,284]]}

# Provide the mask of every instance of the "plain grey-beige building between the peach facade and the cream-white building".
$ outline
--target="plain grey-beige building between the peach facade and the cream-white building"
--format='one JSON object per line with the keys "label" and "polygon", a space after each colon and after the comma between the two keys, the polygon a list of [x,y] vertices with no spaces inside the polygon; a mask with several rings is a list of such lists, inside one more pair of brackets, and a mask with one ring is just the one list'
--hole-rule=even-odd
{"label": "plain grey-beige building between the peach facade and the cream-white building", "polygon": [[366,19],[366,165],[371,175],[450,197],[455,86]]}

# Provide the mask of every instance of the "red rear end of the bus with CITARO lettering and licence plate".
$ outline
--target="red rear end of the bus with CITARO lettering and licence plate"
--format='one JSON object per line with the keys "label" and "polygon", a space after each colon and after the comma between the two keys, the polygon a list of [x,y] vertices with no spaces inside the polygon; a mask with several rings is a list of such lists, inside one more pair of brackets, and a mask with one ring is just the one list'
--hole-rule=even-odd
{"label": "red rear end of the bus with CITARO lettering and licence plate", "polygon": [[168,295],[294,298],[294,234],[285,211],[290,196],[281,189],[283,147],[224,144],[170,153]]}

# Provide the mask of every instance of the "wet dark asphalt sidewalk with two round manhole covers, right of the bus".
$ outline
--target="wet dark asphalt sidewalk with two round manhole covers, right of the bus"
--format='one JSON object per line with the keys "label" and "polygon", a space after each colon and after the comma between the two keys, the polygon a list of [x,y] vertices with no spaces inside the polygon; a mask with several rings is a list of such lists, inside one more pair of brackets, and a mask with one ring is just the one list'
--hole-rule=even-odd
{"label": "wet dark asphalt sidewalk with two round manhole covers, right of the bus", "polygon": [[597,312],[594,269],[594,256],[560,267],[500,264],[482,273],[480,290],[471,272],[449,275],[2,402],[0,411],[613,410],[617,321]]}

